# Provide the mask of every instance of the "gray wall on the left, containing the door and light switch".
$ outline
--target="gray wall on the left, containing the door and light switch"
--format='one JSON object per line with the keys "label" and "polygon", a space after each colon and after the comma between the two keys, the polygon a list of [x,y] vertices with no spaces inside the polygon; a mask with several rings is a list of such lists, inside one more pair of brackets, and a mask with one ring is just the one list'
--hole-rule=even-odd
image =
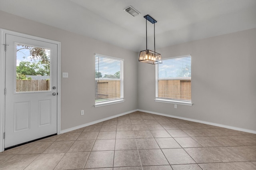
{"label": "gray wall on the left, containing the door and light switch", "polygon": [[[2,11],[0,28],[61,42],[61,130],[138,108],[137,53]],[[124,103],[94,107],[95,53],[124,58]]]}

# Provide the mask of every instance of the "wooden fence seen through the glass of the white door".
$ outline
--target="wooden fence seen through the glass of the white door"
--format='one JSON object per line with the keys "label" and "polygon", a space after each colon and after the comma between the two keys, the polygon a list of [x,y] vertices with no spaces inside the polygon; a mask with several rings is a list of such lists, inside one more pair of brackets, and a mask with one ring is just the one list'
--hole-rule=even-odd
{"label": "wooden fence seen through the glass of the white door", "polygon": [[50,80],[16,80],[16,92],[48,90]]}

